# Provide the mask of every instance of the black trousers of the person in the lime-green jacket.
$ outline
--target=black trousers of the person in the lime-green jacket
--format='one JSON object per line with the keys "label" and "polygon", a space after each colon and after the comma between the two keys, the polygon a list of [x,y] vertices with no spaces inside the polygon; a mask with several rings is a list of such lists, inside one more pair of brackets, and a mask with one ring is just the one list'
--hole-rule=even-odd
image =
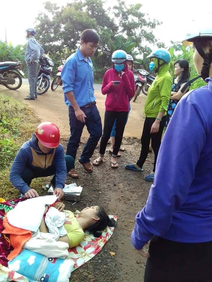
{"label": "black trousers of the person in the lime-green jacket", "polygon": [[137,162],[139,167],[143,167],[143,164],[145,163],[145,160],[148,156],[150,139],[151,139],[152,148],[153,148],[154,155],[155,155],[153,172],[155,172],[155,166],[156,166],[156,162],[157,162],[157,158],[158,158],[158,152],[159,152],[159,149],[160,149],[161,138],[162,138],[165,122],[166,122],[166,117],[162,118],[158,132],[150,134],[151,127],[152,127],[154,122],[155,122],[155,117],[146,117],[145,118],[144,126],[143,126],[143,132],[142,132],[142,136],[141,136],[140,158]]}

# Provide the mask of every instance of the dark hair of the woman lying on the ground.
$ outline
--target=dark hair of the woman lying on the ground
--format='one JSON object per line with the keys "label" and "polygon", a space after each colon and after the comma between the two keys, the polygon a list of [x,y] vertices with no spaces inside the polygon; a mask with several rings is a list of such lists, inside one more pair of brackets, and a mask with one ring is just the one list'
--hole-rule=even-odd
{"label": "dark hair of the woman lying on the ground", "polygon": [[116,222],[113,218],[109,218],[107,212],[103,207],[98,207],[97,216],[100,218],[94,224],[89,226],[86,230],[92,232],[94,237],[100,237],[102,235],[102,231],[105,230],[107,226],[113,227]]}

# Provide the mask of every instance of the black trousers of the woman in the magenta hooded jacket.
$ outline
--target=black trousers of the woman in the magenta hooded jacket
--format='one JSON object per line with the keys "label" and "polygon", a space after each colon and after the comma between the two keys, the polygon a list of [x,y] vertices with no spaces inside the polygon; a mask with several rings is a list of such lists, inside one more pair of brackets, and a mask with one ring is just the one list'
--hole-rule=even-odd
{"label": "black trousers of the woman in the magenta hooded jacket", "polygon": [[110,138],[111,130],[116,119],[115,144],[113,146],[112,156],[116,157],[121,146],[124,134],[125,124],[128,112],[110,112],[105,111],[104,129],[100,142],[100,156],[104,156],[107,142]]}

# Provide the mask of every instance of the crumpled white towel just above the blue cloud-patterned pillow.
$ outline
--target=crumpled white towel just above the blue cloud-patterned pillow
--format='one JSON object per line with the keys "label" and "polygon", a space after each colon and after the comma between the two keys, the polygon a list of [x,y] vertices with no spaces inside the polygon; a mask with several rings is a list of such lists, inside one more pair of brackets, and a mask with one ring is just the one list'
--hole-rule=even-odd
{"label": "crumpled white towel just above the blue cloud-patterned pillow", "polygon": [[47,258],[66,259],[69,245],[65,242],[55,241],[51,236],[50,233],[42,233],[38,230],[24,244],[23,249],[34,251],[47,256]]}

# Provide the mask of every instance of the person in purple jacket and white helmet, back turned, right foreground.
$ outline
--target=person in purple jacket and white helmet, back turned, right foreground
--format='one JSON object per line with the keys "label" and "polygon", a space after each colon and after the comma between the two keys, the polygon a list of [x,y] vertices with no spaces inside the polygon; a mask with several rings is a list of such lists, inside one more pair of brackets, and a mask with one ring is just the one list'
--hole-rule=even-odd
{"label": "person in purple jacket and white helmet, back turned, right foreground", "polygon": [[207,85],[178,103],[146,206],[135,218],[132,244],[148,258],[144,282],[212,281],[212,28],[187,34],[183,44],[193,44]]}

